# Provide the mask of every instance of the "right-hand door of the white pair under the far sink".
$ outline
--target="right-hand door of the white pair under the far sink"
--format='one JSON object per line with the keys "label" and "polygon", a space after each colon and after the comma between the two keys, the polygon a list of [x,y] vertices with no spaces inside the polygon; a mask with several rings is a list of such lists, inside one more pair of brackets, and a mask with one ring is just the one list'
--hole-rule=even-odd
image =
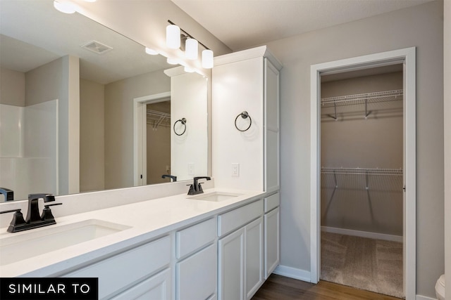
{"label": "right-hand door of the white pair under the far sink", "polygon": [[246,299],[251,299],[264,282],[263,218],[245,227]]}

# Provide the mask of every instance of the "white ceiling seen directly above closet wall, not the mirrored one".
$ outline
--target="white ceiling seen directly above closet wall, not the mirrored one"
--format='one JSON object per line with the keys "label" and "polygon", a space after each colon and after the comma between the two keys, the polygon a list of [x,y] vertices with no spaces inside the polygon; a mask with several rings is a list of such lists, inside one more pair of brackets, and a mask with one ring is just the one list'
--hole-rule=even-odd
{"label": "white ceiling seen directly above closet wall, not the mirrored one", "polygon": [[171,0],[233,51],[433,0]]}

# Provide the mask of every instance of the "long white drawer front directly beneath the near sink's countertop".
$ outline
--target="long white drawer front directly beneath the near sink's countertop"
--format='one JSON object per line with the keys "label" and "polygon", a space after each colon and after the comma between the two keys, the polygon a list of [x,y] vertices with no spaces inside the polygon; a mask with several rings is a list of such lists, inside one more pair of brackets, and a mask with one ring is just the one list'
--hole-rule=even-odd
{"label": "long white drawer front directly beneath the near sink's countertop", "polygon": [[75,270],[63,277],[99,278],[99,299],[105,299],[106,296],[115,294],[169,266],[170,261],[171,240],[166,236]]}

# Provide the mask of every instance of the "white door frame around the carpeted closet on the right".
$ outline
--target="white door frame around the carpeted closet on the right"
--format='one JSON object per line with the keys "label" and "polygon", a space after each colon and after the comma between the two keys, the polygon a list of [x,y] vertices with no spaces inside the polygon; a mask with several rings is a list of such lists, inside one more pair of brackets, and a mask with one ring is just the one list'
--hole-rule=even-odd
{"label": "white door frame around the carpeted closet on the right", "polygon": [[416,295],[416,48],[375,53],[311,65],[310,140],[310,281],[319,282],[321,272],[321,74],[334,74],[369,67],[402,63],[404,66],[404,294]]}

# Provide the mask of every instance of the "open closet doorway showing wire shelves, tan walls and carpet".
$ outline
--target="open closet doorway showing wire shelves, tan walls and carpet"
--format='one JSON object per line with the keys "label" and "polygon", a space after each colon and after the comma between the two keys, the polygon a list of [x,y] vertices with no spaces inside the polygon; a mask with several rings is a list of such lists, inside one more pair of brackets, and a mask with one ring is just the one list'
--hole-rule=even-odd
{"label": "open closet doorway showing wire shelves, tan walls and carpet", "polygon": [[320,279],[403,298],[402,64],[321,76]]}

